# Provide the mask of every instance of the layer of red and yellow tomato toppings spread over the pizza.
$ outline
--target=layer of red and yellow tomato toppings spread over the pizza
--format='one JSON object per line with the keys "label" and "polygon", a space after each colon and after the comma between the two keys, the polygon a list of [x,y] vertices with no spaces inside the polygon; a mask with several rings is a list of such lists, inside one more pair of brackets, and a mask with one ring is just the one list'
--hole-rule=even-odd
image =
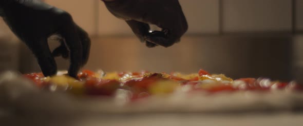
{"label": "layer of red and yellow tomato toppings spread over the pizza", "polygon": [[153,95],[167,95],[177,91],[184,93],[200,91],[206,93],[235,91],[303,91],[296,82],[272,81],[267,78],[231,79],[223,74],[210,74],[199,70],[194,74],[141,72],[93,72],[83,70],[78,79],[66,75],[44,77],[42,73],[25,74],[41,89],[64,90],[73,94],[88,96],[114,96],[118,90],[127,91],[130,99]]}

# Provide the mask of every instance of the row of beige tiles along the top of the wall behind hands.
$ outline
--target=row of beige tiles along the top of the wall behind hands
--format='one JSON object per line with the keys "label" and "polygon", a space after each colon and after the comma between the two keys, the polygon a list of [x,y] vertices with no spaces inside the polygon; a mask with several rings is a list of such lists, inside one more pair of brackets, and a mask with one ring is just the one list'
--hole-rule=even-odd
{"label": "row of beige tiles along the top of the wall behind hands", "polygon": [[[295,1],[297,28],[303,29],[303,14],[300,14],[303,13],[303,1]],[[75,22],[90,34],[132,34],[126,23],[112,16],[99,0],[46,0],[46,2],[70,12]],[[292,28],[292,0],[179,0],[179,2],[188,21],[187,34],[217,34],[220,30],[224,33],[291,32]]]}

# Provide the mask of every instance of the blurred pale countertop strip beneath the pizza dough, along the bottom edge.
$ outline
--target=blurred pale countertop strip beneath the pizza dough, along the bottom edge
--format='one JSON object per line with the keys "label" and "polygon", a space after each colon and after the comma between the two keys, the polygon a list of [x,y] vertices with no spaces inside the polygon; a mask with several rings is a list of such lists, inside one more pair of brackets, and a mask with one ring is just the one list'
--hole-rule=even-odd
{"label": "blurred pale countertop strip beneath the pizza dough, along the bottom edge", "polygon": [[91,115],[78,118],[11,116],[0,118],[5,125],[302,125],[302,113],[263,114],[139,114]]}

